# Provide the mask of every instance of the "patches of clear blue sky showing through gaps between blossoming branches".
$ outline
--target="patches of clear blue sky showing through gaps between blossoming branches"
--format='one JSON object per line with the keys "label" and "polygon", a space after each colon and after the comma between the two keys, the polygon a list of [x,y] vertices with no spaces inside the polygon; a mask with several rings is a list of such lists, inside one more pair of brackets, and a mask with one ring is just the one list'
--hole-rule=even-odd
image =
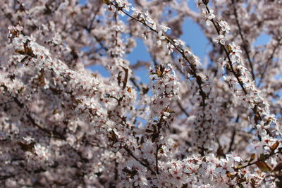
{"label": "patches of clear blue sky showing through gaps between blossoming branches", "polygon": [[[80,4],[85,4],[86,0],[79,0]],[[189,1],[189,6],[192,10],[197,10],[195,6],[195,1]],[[260,35],[255,42],[255,46],[266,44],[269,42],[269,36],[266,34]],[[207,52],[209,51],[209,43],[207,38],[204,36],[200,27],[194,23],[191,19],[185,18],[185,22],[183,23],[183,35],[180,37],[190,48],[192,52],[199,56],[202,60],[207,56]],[[142,39],[137,39],[137,46],[135,49],[125,57],[130,63],[136,63],[139,61],[151,61],[149,54],[147,53],[146,46],[143,44]],[[108,77],[109,73],[107,73],[106,69],[101,65],[95,65],[91,67],[91,70],[94,72],[99,72],[101,75]],[[137,77],[140,77],[142,82],[147,82],[147,70],[137,70],[135,72]]]}

